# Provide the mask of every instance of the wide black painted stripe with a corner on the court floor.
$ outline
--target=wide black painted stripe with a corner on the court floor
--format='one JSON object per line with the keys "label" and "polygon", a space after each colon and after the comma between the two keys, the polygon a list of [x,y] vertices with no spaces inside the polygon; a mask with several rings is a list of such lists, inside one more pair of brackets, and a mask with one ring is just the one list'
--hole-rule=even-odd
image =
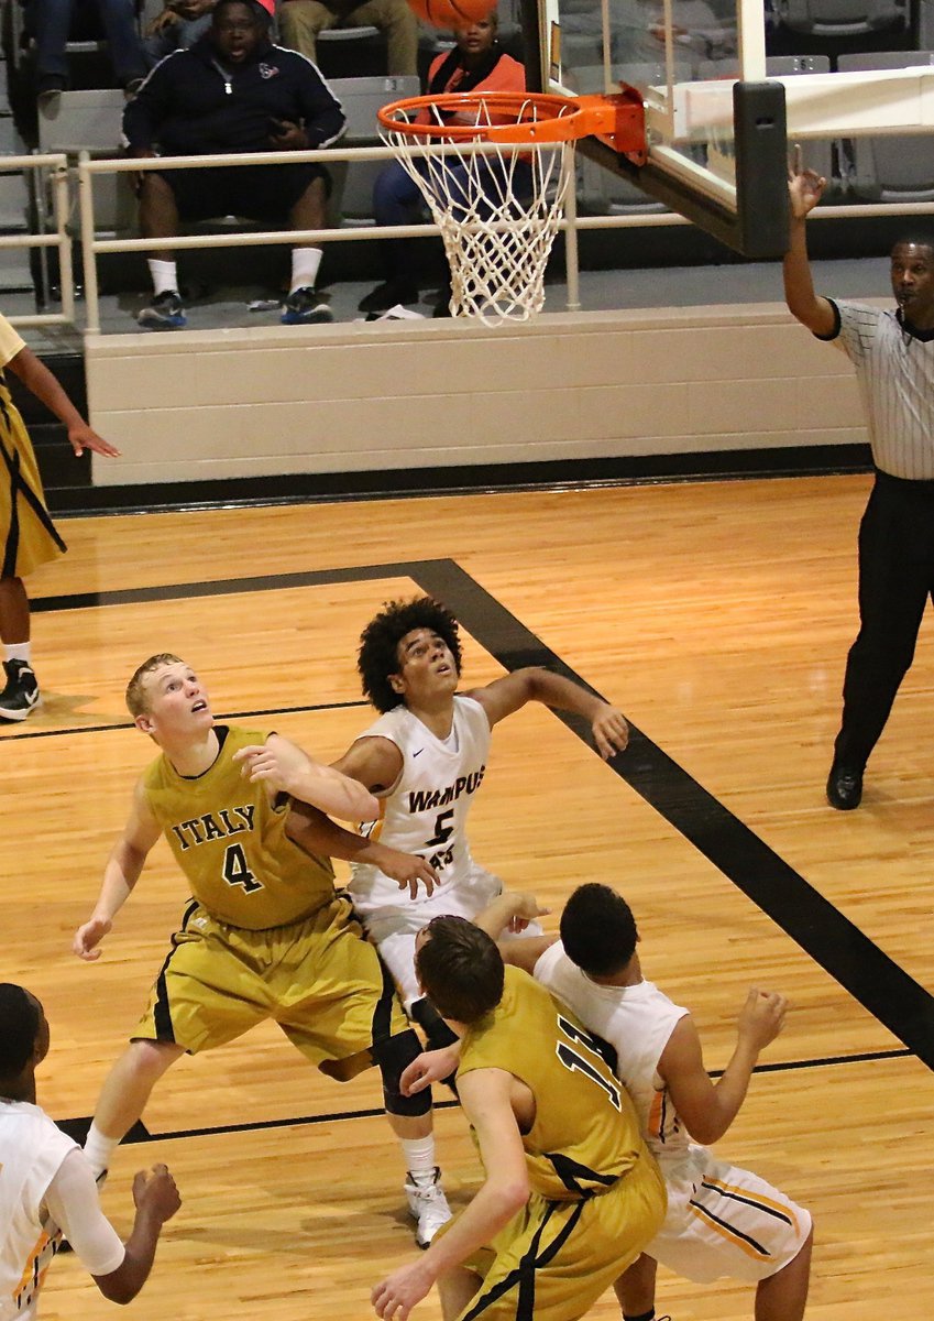
{"label": "wide black painted stripe with a corner on the court floor", "polygon": [[[545,664],[583,683],[570,666],[450,559],[44,597],[33,602],[33,609],[71,610],[406,577],[443,600],[504,668]],[[584,687],[596,691],[590,684]],[[565,712],[555,715],[591,745],[586,720]],[[635,725],[631,725],[629,746],[609,765],[869,1013],[934,1069],[934,997],[923,987]]]}

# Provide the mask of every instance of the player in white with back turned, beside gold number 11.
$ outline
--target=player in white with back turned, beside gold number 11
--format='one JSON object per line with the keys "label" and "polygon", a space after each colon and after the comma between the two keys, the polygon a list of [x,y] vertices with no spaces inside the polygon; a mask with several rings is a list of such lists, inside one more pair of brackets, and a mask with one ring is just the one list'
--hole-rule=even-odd
{"label": "player in white with back turned, beside gold number 11", "polygon": [[[505,894],[480,914],[491,935],[536,915],[534,901]],[[615,1071],[632,1096],[642,1135],[668,1189],[668,1214],[657,1236],[616,1281],[627,1321],[654,1317],[656,1263],[689,1280],[722,1276],[756,1283],[756,1321],[799,1321],[807,1300],[813,1226],[809,1211],[748,1170],[691,1141],[718,1141],[736,1118],[760,1052],[781,1030],[782,996],[751,991],[737,1042],[714,1085],[703,1067],[697,1028],[642,979],[638,933],[628,904],[607,885],[582,885],[561,917],[561,941],[542,937],[500,945],[507,963],[536,980],[609,1044]],[[586,971],[584,971],[586,970]],[[420,1079],[450,1070],[452,1057],[422,1055],[402,1075]],[[690,1136],[689,1136],[690,1135]]]}

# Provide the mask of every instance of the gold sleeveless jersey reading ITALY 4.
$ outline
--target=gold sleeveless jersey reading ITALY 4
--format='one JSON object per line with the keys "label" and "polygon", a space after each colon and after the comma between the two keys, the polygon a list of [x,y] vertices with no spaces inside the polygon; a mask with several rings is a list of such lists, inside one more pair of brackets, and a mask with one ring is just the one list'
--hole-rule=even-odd
{"label": "gold sleeveless jersey reading ITALY 4", "polygon": [[249,931],[301,922],[334,900],[330,857],[307,853],[285,832],[289,799],[240,774],[233,754],[268,732],[215,725],[220,750],[203,774],[179,775],[162,754],[142,785],[149,810],[214,917]]}

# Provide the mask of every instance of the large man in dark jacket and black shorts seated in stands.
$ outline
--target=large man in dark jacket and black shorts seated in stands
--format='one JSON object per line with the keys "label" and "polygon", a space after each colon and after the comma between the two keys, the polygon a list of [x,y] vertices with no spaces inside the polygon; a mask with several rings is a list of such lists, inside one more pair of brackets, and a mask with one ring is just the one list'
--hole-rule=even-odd
{"label": "large man in dark jacket and black shorts seated in stands", "polygon": [[[211,26],[190,50],[178,50],[153,69],[124,111],[131,156],[231,152],[297,152],[327,147],[344,131],[344,112],[314,65],[294,50],[273,46],[269,22],[274,0],[218,0]],[[179,219],[243,215],[288,218],[293,230],[319,230],[330,188],[321,165],[255,165],[144,170],[140,230],[169,238]],[[292,250],[292,288],[285,325],[332,321],[315,293],[322,251]],[[154,297],[139,314],[152,330],[185,325],[175,262],[168,248],[149,262]]]}

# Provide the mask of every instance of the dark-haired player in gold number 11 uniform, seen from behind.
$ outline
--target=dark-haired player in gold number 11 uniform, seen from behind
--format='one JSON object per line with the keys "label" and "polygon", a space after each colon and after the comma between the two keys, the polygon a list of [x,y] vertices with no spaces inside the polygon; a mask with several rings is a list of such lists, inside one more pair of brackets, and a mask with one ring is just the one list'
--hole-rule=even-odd
{"label": "dark-haired player in gold number 11 uniform, seen from behind", "polygon": [[437,1281],[445,1321],[575,1321],[665,1217],[633,1104],[579,1021],[466,918],[434,918],[416,966],[462,1038],[458,1091],[485,1182],[376,1285],[376,1314],[406,1321]]}

